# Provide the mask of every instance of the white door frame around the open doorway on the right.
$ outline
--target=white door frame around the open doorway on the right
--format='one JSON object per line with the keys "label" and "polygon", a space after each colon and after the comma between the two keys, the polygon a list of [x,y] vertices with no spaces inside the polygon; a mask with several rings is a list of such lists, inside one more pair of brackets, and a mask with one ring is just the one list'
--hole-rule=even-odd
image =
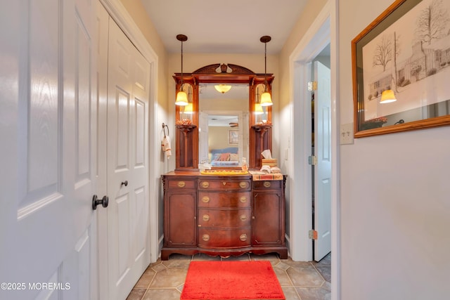
{"label": "white door frame around the open doorway on the right", "polygon": [[[300,131],[292,137],[293,178],[290,189],[290,256],[295,261],[311,261],[311,103],[307,81],[311,78],[311,61],[330,44],[331,70],[331,299],[340,299],[340,220],[339,220],[339,103],[338,103],[338,0],[329,0],[290,55],[292,91],[292,128]],[[299,83],[304,84],[299,84]],[[298,184],[297,184],[298,183]]]}

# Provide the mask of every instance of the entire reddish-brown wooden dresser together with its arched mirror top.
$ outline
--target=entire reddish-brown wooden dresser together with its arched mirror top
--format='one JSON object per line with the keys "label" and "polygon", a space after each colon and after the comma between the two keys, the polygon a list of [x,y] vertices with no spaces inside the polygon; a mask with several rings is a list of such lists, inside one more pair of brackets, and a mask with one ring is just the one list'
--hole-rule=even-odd
{"label": "entire reddish-brown wooden dresser together with its arched mirror top", "polygon": [[[176,168],[162,176],[165,212],[161,259],[167,260],[174,253],[226,257],[248,252],[275,252],[287,259],[286,176],[261,180],[247,173],[198,171],[204,162],[215,166],[212,171],[240,169],[235,162],[243,158],[250,169],[262,167],[262,151],[272,150],[272,109],[270,105],[262,107],[259,99],[263,91],[271,92],[273,74],[217,63],[192,73],[175,73],[174,80],[176,93],[184,91],[188,105],[175,107]],[[229,85],[233,96],[223,98],[225,92],[215,91],[217,84]],[[209,122],[217,119],[228,121],[225,126],[211,124],[210,129]],[[218,126],[224,128],[212,133],[212,127]],[[236,140],[230,135],[233,132]],[[216,137],[211,143],[208,134]],[[234,152],[227,153],[231,149]],[[216,158],[213,150],[220,156]],[[238,160],[231,159],[231,154],[238,155]],[[234,167],[224,167],[226,163]]]}

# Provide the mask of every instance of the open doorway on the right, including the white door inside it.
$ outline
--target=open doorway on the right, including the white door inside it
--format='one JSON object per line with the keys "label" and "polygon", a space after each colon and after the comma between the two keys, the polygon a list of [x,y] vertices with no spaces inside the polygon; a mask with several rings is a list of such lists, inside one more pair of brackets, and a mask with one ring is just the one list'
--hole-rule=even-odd
{"label": "open doorway on the right, including the white door inside it", "polygon": [[321,261],[331,252],[331,100],[330,44],[311,62],[311,228],[312,254]]}

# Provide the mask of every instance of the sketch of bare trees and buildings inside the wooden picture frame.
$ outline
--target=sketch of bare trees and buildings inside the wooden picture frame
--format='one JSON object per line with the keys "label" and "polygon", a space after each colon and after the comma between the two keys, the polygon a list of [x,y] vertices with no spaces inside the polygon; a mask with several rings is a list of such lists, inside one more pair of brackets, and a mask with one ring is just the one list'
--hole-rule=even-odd
{"label": "sketch of bare trees and buildings inside the wooden picture frame", "polygon": [[[362,48],[364,119],[450,99],[450,1],[423,0]],[[392,89],[397,101],[380,104]]]}

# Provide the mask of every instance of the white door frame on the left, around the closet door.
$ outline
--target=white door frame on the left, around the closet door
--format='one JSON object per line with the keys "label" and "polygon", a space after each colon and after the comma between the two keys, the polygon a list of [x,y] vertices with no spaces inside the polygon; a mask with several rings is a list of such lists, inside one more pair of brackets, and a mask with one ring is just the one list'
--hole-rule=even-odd
{"label": "white door frame on the left, around the closet door", "polygon": [[[157,126],[158,120],[158,56],[148,41],[139,30],[134,20],[129,15],[126,8],[119,0],[99,0],[111,18],[115,20],[120,29],[129,38],[131,43],[136,46],[143,57],[150,63],[150,95],[149,95],[149,112],[148,112],[148,161],[158,162],[160,160],[160,143],[156,143],[157,136],[160,141],[160,126]],[[150,262],[155,262],[160,254],[158,239],[158,199],[160,199],[160,174],[159,168],[150,168],[148,170],[148,197],[149,197],[149,223],[150,223]]]}

